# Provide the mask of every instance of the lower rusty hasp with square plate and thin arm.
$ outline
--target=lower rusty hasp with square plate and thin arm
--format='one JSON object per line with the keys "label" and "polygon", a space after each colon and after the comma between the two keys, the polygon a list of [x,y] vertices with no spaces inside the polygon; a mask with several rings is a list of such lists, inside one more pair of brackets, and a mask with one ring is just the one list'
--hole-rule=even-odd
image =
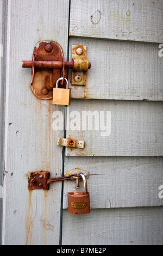
{"label": "lower rusty hasp with square plate and thin arm", "polygon": [[49,172],[32,172],[28,173],[28,190],[49,190],[49,184],[51,182],[63,181],[63,180],[77,180],[78,174],[71,174],[68,176],[55,177],[50,179]]}

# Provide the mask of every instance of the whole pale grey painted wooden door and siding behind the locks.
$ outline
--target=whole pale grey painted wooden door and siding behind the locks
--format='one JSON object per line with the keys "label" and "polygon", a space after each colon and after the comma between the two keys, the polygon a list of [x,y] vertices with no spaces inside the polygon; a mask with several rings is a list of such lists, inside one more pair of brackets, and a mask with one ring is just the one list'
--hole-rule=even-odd
{"label": "whole pale grey painted wooden door and siding behind the locks", "polygon": [[[1,0],[3,245],[162,244],[162,9],[161,0]],[[86,86],[71,86],[68,111],[37,99],[21,68],[43,40],[58,42],[70,61],[72,45],[87,46],[91,70]],[[93,127],[103,126],[65,131],[60,120],[55,131],[55,111],[90,111]],[[56,142],[65,132],[85,148],[63,154]],[[77,167],[90,173],[89,215],[68,214],[72,182],[64,191],[61,182],[27,189],[28,172]]]}

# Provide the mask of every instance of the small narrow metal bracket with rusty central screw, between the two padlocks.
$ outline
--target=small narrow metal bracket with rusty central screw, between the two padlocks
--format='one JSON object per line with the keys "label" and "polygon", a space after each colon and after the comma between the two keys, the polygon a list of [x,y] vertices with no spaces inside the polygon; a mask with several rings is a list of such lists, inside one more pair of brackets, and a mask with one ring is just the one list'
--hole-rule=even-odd
{"label": "small narrow metal bracket with rusty central screw, between the two padlocks", "polygon": [[83,149],[85,147],[84,141],[76,141],[75,139],[71,138],[58,138],[57,139],[57,145],[64,146],[64,147],[70,147],[70,148],[80,148]]}

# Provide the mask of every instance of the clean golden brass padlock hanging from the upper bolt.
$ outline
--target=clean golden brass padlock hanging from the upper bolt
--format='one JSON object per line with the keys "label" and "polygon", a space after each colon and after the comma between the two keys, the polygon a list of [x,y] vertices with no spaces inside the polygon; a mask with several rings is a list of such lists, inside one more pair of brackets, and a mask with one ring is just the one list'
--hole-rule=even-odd
{"label": "clean golden brass padlock hanging from the upper bolt", "polygon": [[60,77],[57,80],[56,88],[53,88],[53,104],[68,106],[71,101],[71,89],[68,89],[68,80],[65,78],[66,89],[58,88],[59,81],[63,79],[63,77]]}

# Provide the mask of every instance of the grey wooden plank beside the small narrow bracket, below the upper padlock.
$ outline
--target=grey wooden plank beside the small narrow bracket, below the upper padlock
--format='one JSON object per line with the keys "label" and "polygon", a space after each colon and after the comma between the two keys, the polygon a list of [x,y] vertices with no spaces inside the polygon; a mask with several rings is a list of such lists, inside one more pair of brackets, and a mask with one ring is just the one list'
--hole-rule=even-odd
{"label": "grey wooden plank beside the small narrow bracket, below the upper padlock", "polygon": [[162,156],[162,108],[161,102],[73,100],[67,137],[85,141],[85,148],[66,148],[66,155]]}

